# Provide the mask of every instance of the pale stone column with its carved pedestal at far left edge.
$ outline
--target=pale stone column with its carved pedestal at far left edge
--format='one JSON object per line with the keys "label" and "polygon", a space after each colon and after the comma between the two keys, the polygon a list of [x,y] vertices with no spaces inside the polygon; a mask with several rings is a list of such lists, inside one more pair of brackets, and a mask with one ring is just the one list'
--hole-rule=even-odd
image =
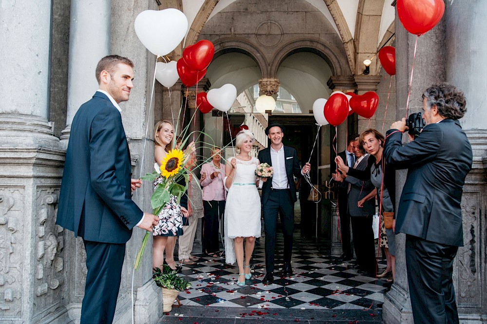
{"label": "pale stone column with its carved pedestal at far left edge", "polygon": [[1,323],[66,316],[64,231],[57,197],[64,162],[49,116],[51,0],[1,1]]}

